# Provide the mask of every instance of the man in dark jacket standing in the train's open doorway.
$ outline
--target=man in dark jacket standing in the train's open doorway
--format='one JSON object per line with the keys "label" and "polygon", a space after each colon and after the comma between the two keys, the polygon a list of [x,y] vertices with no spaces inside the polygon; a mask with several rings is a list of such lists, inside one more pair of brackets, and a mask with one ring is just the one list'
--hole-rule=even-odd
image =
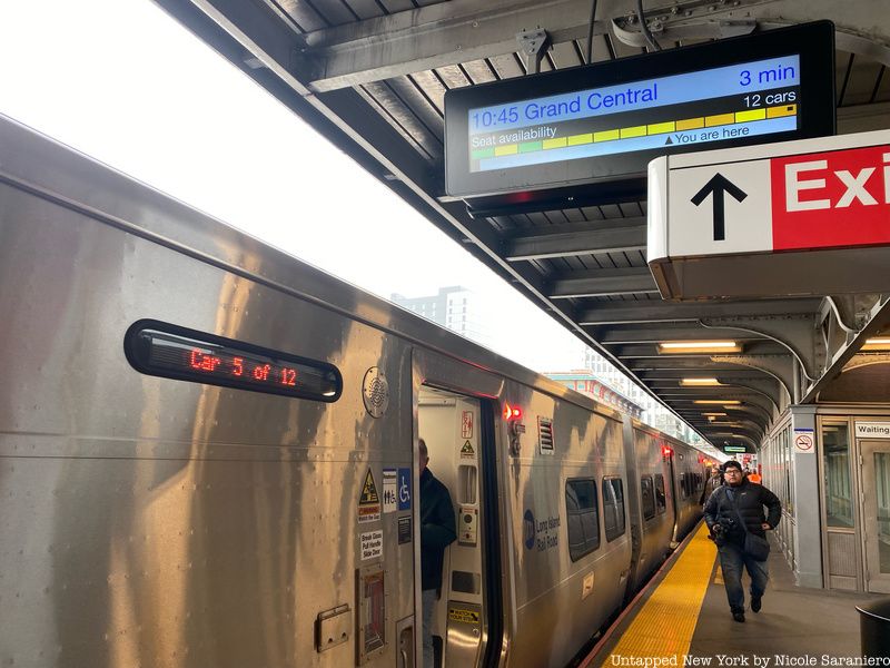
{"label": "man in dark jacket standing in the train's open doorway", "polygon": [[446,488],[427,468],[429,452],[421,439],[421,589],[423,590],[424,668],[435,668],[433,656],[433,610],[442,592],[445,548],[457,538],[454,505]]}

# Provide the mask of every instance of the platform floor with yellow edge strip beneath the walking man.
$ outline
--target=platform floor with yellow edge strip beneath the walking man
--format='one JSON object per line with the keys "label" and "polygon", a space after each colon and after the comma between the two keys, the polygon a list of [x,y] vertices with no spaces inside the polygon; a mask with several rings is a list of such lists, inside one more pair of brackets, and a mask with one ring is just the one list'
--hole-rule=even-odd
{"label": "platform floor with yellow edge strip beneath the walking man", "polygon": [[773,544],[759,613],[732,619],[716,546],[702,522],[582,660],[599,666],[851,666],[861,661],[856,606],[880,595],[795,587]]}

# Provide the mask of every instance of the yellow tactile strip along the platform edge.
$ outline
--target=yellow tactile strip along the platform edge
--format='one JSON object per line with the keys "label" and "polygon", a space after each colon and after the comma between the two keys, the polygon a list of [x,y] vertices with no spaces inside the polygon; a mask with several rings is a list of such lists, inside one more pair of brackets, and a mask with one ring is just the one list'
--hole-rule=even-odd
{"label": "yellow tactile strip along the platform edge", "polygon": [[673,665],[682,666],[715,559],[716,548],[708,540],[708,527],[702,524],[612,649],[605,665],[619,665],[613,657],[676,657],[678,664]]}

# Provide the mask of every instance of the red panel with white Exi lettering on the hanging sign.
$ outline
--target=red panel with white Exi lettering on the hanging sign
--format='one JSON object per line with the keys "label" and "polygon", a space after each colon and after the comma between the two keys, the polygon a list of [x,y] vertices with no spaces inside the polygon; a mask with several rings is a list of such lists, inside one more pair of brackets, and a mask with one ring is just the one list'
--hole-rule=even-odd
{"label": "red panel with white Exi lettering on the hanging sign", "polygon": [[890,145],[770,160],[773,250],[890,244]]}

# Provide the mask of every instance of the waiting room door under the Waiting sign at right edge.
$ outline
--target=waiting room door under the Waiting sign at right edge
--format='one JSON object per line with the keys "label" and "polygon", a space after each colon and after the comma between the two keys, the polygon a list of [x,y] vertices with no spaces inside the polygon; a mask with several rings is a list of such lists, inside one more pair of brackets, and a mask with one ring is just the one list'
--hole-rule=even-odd
{"label": "waiting room door under the Waiting sign at right edge", "polygon": [[890,593],[890,441],[860,441],[866,590]]}

